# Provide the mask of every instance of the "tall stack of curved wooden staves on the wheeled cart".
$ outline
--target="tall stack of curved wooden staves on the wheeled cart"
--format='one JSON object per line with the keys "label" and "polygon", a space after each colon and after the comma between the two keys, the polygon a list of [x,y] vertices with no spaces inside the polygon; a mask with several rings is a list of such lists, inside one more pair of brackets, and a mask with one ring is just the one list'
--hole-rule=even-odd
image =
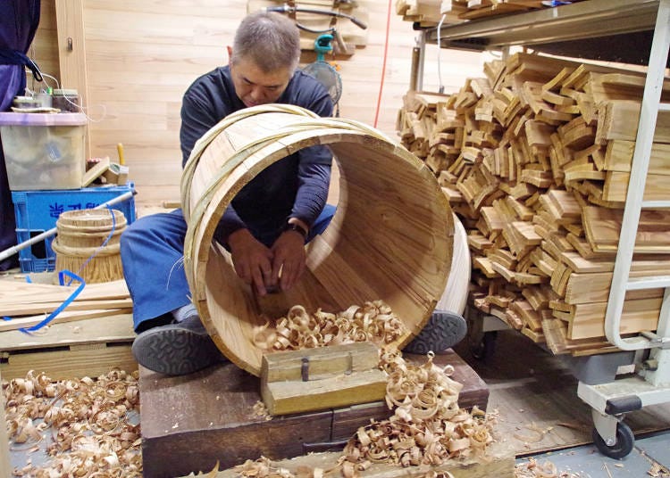
{"label": "tall stack of curved wooden staves on the wheeled cart", "polygon": [[[398,115],[469,231],[472,304],[557,354],[616,350],[604,320],[645,78],[531,54],[484,73],[454,95],[410,92]],[[645,200],[668,199],[669,177],[661,111]],[[643,210],[631,276],[668,268],[670,211]],[[622,334],[655,330],[662,297],[627,293]]]}

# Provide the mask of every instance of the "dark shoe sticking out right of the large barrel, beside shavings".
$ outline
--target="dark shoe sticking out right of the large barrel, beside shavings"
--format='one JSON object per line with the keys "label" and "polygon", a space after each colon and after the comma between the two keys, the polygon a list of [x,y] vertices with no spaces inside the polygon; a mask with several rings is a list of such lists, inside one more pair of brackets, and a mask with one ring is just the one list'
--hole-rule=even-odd
{"label": "dark shoe sticking out right of the large barrel, beside shavings", "polygon": [[422,355],[431,350],[441,352],[461,342],[465,339],[465,334],[465,318],[447,310],[435,310],[423,330],[405,346],[404,351]]}

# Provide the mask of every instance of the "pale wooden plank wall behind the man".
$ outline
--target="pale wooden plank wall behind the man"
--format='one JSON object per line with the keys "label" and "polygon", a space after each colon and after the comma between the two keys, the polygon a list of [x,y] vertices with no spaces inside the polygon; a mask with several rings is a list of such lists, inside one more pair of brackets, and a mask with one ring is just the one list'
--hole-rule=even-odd
{"label": "pale wooden plank wall behind the man", "polygon": [[[34,54],[54,76],[58,50],[54,2],[43,0]],[[179,199],[181,96],[199,75],[228,62],[247,0],[82,0],[91,154],[116,158],[122,143],[138,202]],[[391,2],[394,3],[394,2]],[[343,83],[340,116],[374,125],[380,95],[389,3],[359,0],[367,10],[367,45],[338,59]],[[390,36],[377,128],[396,137],[395,121],[409,85],[417,33],[391,5]],[[52,38],[53,43],[48,41]],[[309,55],[306,55],[308,57]],[[442,50],[446,92],[482,76],[482,55]],[[314,58],[311,55],[310,60]],[[429,46],[424,89],[436,90],[437,48]],[[68,87],[68,85],[63,85]]]}

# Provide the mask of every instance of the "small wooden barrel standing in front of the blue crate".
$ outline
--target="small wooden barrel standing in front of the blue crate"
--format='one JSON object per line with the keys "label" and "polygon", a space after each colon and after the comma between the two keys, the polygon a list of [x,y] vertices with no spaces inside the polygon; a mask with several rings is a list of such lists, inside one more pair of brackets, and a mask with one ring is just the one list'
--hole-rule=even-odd
{"label": "small wooden barrel standing in front of the blue crate", "polygon": [[51,243],[56,270],[69,270],[87,283],[123,278],[119,240],[125,227],[120,210],[64,211]]}

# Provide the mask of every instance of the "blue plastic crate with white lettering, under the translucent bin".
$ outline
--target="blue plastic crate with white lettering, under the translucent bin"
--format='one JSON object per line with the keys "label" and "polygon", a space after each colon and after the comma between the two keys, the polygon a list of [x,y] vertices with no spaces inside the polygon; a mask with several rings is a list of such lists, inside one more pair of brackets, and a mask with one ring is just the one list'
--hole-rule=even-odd
{"label": "blue plastic crate with white lettering, under the translucent bin", "polygon": [[[55,227],[56,219],[65,210],[83,210],[95,208],[121,194],[134,189],[128,185],[84,187],[78,190],[63,191],[14,191],[12,201],[16,215],[16,240],[18,243],[29,240]],[[135,220],[135,199],[130,197],[114,204],[113,209],[121,210],[128,224]],[[51,249],[54,236],[42,243],[32,244],[19,251],[21,272],[45,272],[54,270],[55,254]]]}

